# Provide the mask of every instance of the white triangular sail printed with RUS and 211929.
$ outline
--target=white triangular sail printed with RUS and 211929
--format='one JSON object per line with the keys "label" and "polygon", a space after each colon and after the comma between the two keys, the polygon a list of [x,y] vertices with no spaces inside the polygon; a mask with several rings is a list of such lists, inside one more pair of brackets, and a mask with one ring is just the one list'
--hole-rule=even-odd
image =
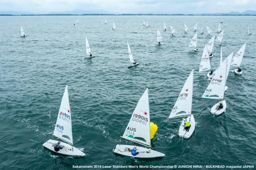
{"label": "white triangular sail printed with RUS and 211929", "polygon": [[60,110],[53,135],[73,145],[71,111],[68,99],[68,85],[66,86],[61,100]]}

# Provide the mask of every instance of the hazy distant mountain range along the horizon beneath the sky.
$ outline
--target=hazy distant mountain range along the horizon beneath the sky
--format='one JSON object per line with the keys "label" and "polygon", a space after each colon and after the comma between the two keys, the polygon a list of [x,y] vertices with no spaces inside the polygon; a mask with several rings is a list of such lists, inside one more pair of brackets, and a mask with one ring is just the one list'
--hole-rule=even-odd
{"label": "hazy distant mountain range along the horizon beneath the sky", "polygon": [[[29,11],[0,11],[0,15],[41,15],[42,13],[36,13],[36,12],[29,12]],[[92,10],[92,11],[86,11],[86,10],[72,10],[72,11],[62,11],[62,12],[50,12],[47,14],[42,14],[42,15],[89,15],[89,14],[102,14],[102,15],[122,15],[121,13],[113,13],[113,12],[108,12],[104,10]],[[163,12],[159,12],[158,14],[165,15]],[[124,15],[129,15],[129,14],[124,14]],[[136,14],[131,14],[131,15],[136,15]],[[143,14],[142,14],[143,15]],[[148,15],[148,14],[144,14]],[[157,14],[150,14],[150,15],[157,15]],[[171,14],[171,13],[166,13],[166,15],[256,15],[256,11],[252,10],[247,10],[244,12],[236,12],[236,11],[231,11],[229,13],[198,13],[198,14]]]}

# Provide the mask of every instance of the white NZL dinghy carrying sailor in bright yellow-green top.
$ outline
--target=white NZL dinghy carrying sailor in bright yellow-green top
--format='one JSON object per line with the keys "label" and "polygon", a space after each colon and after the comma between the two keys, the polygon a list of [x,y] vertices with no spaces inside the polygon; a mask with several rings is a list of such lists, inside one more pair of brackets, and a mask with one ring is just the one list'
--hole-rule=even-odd
{"label": "white NZL dinghy carrying sailor in bright yellow-green top", "polygon": [[195,119],[194,116],[191,114],[192,110],[192,99],[193,99],[193,77],[194,77],[194,70],[192,70],[186,80],[176,103],[172,108],[172,112],[167,119],[175,118],[175,117],[187,117],[187,121],[190,124],[190,128],[188,131],[185,129],[183,125],[184,122],[180,124],[179,128],[179,136],[184,138],[189,138],[195,130]]}

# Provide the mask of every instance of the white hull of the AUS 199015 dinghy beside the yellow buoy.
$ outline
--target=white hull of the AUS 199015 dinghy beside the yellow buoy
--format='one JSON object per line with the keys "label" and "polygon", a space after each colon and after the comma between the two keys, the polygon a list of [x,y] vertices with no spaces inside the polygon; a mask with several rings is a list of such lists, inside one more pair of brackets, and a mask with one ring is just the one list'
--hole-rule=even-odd
{"label": "white hull of the AUS 199015 dinghy beside the yellow buoy", "polygon": [[143,148],[140,146],[137,146],[138,151],[140,151],[139,154],[133,156],[131,152],[128,151],[128,148],[133,148],[133,145],[124,145],[124,144],[117,144],[114,148],[114,152],[120,155],[134,157],[134,158],[156,158],[156,157],[163,157],[165,154],[161,152],[157,152],[154,150],[151,150],[150,153],[148,148]]}

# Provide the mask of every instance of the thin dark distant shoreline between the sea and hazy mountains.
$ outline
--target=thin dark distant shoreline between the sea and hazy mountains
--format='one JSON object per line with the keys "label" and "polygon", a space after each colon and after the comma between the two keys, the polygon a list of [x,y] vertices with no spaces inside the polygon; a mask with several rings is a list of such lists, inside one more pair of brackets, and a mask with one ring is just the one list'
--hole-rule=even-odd
{"label": "thin dark distant shoreline between the sea and hazy mountains", "polygon": [[249,15],[249,14],[245,14],[245,15],[231,15],[231,14],[21,14],[21,15],[13,15],[13,14],[0,14],[0,16],[84,16],[84,15],[92,15],[92,16],[108,16],[108,15],[114,15],[114,16],[123,16],[123,15],[131,15],[131,16],[143,16],[143,15],[157,15],[157,16],[256,16],[256,15]]}

